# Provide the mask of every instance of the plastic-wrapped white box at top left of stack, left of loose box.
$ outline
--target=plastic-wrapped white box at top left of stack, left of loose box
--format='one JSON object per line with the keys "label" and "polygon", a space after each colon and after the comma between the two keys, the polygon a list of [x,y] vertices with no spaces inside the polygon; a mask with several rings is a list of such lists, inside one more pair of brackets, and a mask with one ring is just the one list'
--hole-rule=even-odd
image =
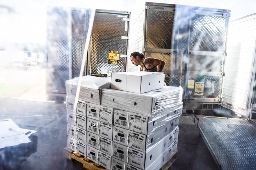
{"label": "plastic-wrapped white box at top left of stack, left of loose box", "polygon": [[101,90],[110,88],[111,78],[101,78],[96,76],[82,76],[65,81],[67,95],[76,96],[76,91],[80,87],[79,99],[100,105]]}

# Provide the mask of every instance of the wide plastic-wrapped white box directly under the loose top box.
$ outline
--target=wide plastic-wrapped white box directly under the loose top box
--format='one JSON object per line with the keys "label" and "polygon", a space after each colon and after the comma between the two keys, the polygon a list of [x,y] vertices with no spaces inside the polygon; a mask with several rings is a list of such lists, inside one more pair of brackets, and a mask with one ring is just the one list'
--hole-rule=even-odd
{"label": "wide plastic-wrapped white box directly under the loose top box", "polygon": [[116,89],[102,90],[102,106],[118,108],[146,116],[160,116],[176,110],[182,104],[181,87],[164,86],[161,89],[136,94]]}

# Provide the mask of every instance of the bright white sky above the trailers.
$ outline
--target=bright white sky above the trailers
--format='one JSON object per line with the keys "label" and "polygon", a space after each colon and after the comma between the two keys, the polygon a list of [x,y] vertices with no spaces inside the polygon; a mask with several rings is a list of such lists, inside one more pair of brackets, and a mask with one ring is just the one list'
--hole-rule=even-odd
{"label": "bright white sky above the trailers", "polygon": [[[46,6],[107,9],[131,12],[135,20],[145,0],[1,0],[0,47],[11,43],[46,42]],[[256,0],[154,0],[148,2],[230,9],[230,20],[256,13]]]}

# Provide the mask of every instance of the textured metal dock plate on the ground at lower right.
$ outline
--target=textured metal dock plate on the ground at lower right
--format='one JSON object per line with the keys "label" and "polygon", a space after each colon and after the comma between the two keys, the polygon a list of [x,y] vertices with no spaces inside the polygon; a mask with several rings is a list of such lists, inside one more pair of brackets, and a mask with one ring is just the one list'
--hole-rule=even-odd
{"label": "textured metal dock plate on the ground at lower right", "polygon": [[219,169],[255,169],[255,122],[196,115],[192,119]]}

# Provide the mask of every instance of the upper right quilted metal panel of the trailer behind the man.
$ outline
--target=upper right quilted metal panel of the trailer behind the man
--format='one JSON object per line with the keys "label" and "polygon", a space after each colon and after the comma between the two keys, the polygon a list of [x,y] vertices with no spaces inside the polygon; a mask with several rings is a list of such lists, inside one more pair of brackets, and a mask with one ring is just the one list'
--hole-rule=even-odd
{"label": "upper right quilted metal panel of the trailer behind the man", "polygon": [[228,17],[197,14],[191,17],[189,50],[225,52]]}

